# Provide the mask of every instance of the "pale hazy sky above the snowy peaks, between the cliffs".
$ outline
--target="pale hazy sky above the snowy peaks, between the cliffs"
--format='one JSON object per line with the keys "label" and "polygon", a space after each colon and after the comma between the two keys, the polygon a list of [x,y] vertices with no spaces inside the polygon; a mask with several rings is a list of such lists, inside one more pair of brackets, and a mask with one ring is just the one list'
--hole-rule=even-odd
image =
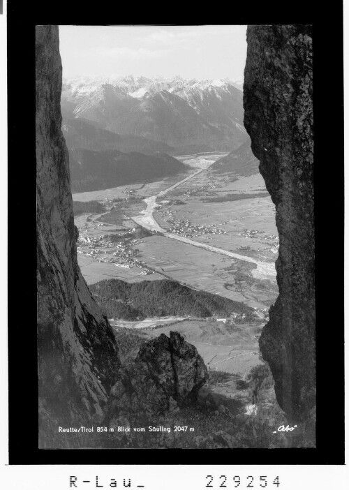
{"label": "pale hazy sky above the snowy peaks, between the cliffs", "polygon": [[246,26],[60,26],[63,75],[242,80]]}

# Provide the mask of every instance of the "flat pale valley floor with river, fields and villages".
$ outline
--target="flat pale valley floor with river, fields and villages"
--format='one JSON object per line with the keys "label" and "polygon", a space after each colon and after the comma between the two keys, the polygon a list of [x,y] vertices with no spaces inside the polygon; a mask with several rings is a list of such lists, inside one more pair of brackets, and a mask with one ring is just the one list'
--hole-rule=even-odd
{"label": "flat pale valley floor with river, fields and villages", "polygon": [[[265,308],[272,304],[277,295],[274,205],[269,197],[202,202],[202,195],[224,196],[230,192],[250,195],[265,190],[260,175],[243,179],[226,175],[212,177],[209,166],[221,156],[181,157],[184,163],[191,165],[189,175],[144,186],[74,194],[73,200],[80,201],[125,198],[130,193],[135,198],[143,198],[138,205],[131,205],[129,201],[126,213],[123,210],[122,213],[110,211],[104,216],[78,216],[75,224],[82,237],[98,237],[138,226],[161,233],[130,244],[133,249],[137,247],[143,269],[132,264],[118,267],[106,258],[101,259],[103,255],[117,253],[116,248],[104,250],[99,257],[87,255],[86,249],[80,250],[78,262],[87,283],[112,278],[128,282],[167,278],[253,307]],[[258,233],[246,233],[247,226]],[[195,231],[203,227],[207,232]],[[237,274],[240,274],[238,283]]]}

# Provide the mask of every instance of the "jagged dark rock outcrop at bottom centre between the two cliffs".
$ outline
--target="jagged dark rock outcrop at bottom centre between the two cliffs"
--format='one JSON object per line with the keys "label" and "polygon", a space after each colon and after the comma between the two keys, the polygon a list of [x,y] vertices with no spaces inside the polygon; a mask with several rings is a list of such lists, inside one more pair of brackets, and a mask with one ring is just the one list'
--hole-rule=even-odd
{"label": "jagged dark rock outcrop at bottom centre between the two cliffs", "polygon": [[145,342],[135,362],[119,371],[110,416],[151,417],[191,406],[208,378],[198,350],[178,332]]}

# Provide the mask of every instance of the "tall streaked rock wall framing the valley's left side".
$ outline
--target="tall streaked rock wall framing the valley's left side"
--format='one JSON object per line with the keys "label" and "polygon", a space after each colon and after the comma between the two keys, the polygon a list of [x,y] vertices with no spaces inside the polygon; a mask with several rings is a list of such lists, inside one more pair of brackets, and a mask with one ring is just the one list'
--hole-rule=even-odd
{"label": "tall streaked rock wall framing the valley's left side", "polygon": [[57,426],[101,419],[119,366],[112,329],[77,266],[68,151],[61,134],[57,26],[36,28],[40,447],[67,447]]}

